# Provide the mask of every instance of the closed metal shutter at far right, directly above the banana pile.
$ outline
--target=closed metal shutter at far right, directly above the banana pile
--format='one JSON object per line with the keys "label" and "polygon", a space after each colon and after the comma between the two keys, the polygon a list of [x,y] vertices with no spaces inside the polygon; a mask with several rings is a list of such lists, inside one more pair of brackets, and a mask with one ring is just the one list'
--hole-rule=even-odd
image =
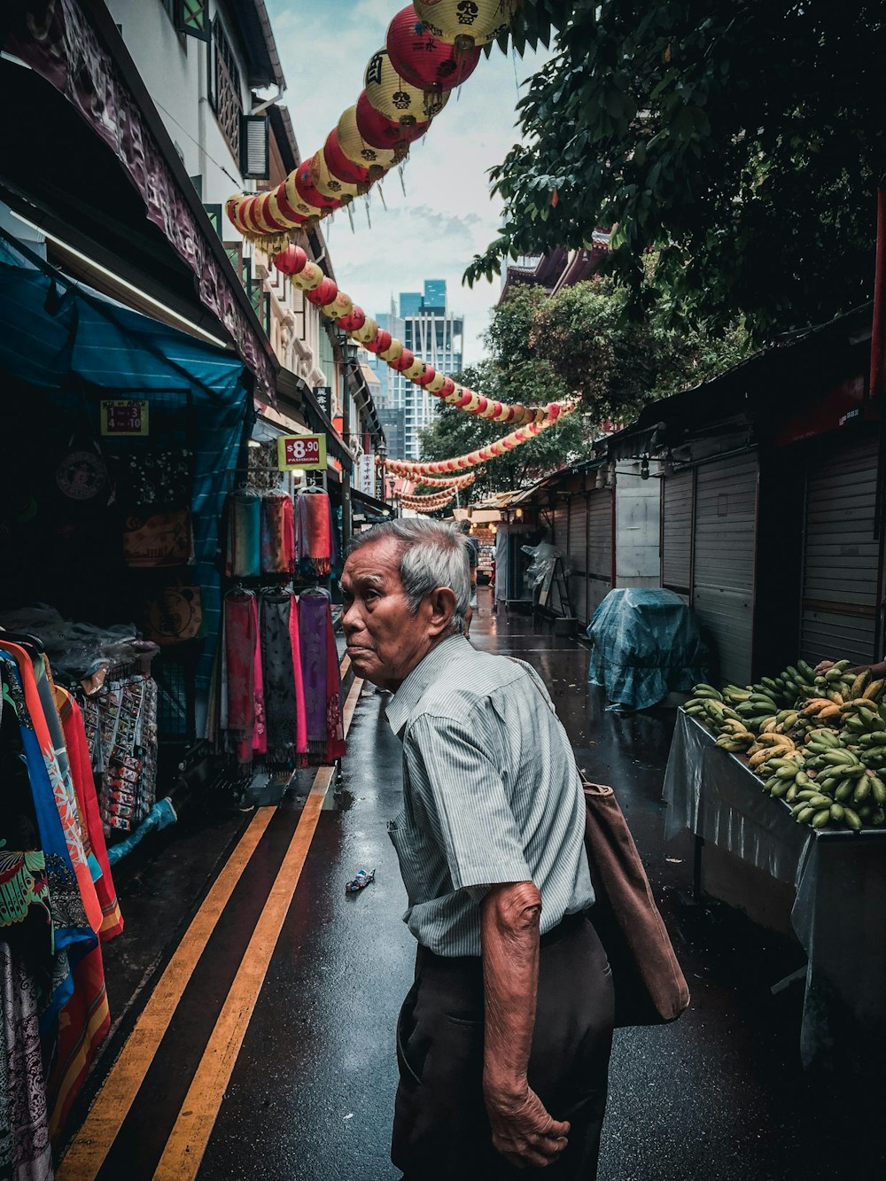
{"label": "closed metal shutter at far right, directly above the banana pile", "polygon": [[803,608],[804,660],[879,659],[874,536],[877,444],[840,448],[807,476]]}

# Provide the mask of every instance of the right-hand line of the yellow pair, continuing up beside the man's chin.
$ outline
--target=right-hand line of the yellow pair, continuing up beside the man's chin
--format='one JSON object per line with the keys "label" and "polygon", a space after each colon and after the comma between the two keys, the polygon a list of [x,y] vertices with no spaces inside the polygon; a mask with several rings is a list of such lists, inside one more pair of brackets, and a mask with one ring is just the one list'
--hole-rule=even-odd
{"label": "right-hand line of the yellow pair, continuing up beside the man's chin", "polygon": [[[345,703],[345,733],[363,687],[354,680]],[[190,1084],[182,1110],[163,1150],[154,1181],[188,1181],[197,1175],[209,1136],[215,1127],[224,1091],[230,1082],[249,1019],[265,983],[271,959],[295,894],[307,860],[323,802],[334,778],[335,769],[324,766],[317,772],[311,794],[299,818],[289,848],[280,866],[261,918],[249,940],[230,992],[213,1030],[197,1072]]]}

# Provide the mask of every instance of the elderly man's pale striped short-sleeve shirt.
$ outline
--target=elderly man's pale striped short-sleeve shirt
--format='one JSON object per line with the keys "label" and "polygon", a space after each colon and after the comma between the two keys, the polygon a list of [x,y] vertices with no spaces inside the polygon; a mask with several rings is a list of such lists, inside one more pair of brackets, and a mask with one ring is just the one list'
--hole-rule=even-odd
{"label": "elderly man's pale striped short-sleeve shirt", "polygon": [[403,681],[387,719],[403,740],[389,833],[419,944],[480,955],[480,902],[496,883],[535,883],[542,934],[593,903],[581,778],[529,665],[452,637]]}

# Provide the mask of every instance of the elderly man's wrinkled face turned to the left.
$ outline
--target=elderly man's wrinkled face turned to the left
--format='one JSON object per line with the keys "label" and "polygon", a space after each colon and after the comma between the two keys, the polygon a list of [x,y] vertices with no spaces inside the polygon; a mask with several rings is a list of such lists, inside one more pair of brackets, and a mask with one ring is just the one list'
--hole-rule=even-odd
{"label": "elderly man's wrinkled face turned to the left", "polygon": [[437,638],[426,600],[413,615],[399,575],[399,546],[390,537],[367,542],[341,573],[347,654],[354,673],[397,689]]}

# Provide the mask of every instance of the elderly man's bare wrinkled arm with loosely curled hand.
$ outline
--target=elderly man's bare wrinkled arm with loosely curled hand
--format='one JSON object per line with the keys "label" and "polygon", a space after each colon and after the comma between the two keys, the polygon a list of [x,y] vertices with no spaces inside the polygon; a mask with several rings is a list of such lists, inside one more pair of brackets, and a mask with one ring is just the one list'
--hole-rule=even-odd
{"label": "elderly man's bare wrinkled arm with loosely curled hand", "polygon": [[530,881],[493,886],[481,902],[486,993],[483,1097],[495,1148],[519,1167],[549,1164],[566,1147],[529,1088],[527,1068],[539,987],[541,895]]}

